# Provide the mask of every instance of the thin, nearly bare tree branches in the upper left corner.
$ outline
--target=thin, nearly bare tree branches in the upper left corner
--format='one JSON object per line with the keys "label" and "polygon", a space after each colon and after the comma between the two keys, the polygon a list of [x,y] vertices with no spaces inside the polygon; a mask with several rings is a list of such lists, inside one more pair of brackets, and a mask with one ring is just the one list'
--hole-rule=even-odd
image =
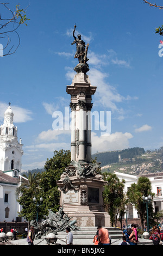
{"label": "thin, nearly bare tree branches in the upper left corner", "polygon": [[[20,36],[17,32],[17,29],[20,25],[25,24],[27,26],[26,21],[28,21],[29,19],[27,19],[27,15],[26,15],[26,9],[20,9],[20,4],[16,5],[16,10],[12,11],[9,9],[8,7],[8,3],[0,3],[0,7],[2,8],[4,14],[7,11],[7,15],[8,17],[5,18],[0,14],[0,38],[7,40],[7,42],[5,41],[4,46],[0,47],[0,56],[8,56],[11,55],[13,53],[16,52],[18,46],[20,46]],[[9,34],[10,33],[16,33],[17,37],[18,37],[18,44],[15,47],[14,50],[14,45],[12,45],[11,47],[9,47],[9,44],[11,42]],[[7,50],[8,49],[8,50]],[[7,50],[7,53],[3,53],[4,50]]]}

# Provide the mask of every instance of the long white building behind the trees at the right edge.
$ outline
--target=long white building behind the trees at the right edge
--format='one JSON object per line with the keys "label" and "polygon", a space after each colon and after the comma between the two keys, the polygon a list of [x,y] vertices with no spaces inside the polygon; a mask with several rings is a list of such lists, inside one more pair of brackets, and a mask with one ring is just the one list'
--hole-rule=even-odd
{"label": "long white building behind the trees at the right edge", "polygon": [[[133,183],[137,183],[137,180],[140,176],[146,176],[150,181],[152,185],[152,192],[155,193],[155,196],[153,198],[153,209],[154,212],[158,212],[163,210],[163,196],[162,196],[162,190],[163,190],[163,172],[158,173],[151,173],[146,175],[129,175],[125,173],[118,173],[115,172],[118,179],[124,179],[126,183],[124,184],[124,192],[127,192],[128,188]],[[128,218],[138,218],[137,211],[131,206],[131,204],[128,206],[128,212],[127,212]]]}

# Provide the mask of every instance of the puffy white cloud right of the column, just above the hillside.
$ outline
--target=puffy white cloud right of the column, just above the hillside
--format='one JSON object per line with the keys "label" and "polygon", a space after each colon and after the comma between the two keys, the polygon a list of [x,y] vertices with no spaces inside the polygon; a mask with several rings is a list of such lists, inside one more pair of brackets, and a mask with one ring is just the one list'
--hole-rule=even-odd
{"label": "puffy white cloud right of the column, just above the hillside", "polygon": [[95,132],[92,132],[92,154],[97,151],[103,152],[129,148],[129,139],[131,138],[133,138],[133,135],[129,132],[115,132],[105,136],[97,136]]}

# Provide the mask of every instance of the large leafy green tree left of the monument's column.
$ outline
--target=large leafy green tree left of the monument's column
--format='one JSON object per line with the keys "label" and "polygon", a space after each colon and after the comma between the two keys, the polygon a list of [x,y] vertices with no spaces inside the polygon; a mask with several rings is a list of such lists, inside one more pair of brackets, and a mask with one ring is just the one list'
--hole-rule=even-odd
{"label": "large leafy green tree left of the monument's column", "polygon": [[[59,210],[60,192],[56,181],[60,179],[60,175],[71,161],[70,150],[54,151],[54,156],[47,159],[45,163],[45,171],[42,173],[28,173],[26,178],[28,182],[24,182],[19,192],[22,196],[18,198],[18,203],[22,205],[22,211],[19,216],[31,221],[36,218],[36,203],[40,204],[39,199],[42,197],[43,202],[38,208],[38,217],[48,214],[48,209],[54,212]],[[27,187],[28,186],[28,187]],[[33,202],[33,198],[36,202]]]}

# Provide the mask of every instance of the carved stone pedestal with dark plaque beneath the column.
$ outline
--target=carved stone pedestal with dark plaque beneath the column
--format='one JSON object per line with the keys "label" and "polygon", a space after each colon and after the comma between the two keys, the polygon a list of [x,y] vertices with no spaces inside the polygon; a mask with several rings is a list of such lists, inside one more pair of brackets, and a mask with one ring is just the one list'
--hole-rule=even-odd
{"label": "carved stone pedestal with dark plaque beneath the column", "polygon": [[[102,193],[106,182],[101,174],[80,178],[71,168],[71,175],[61,175],[57,181],[61,192],[60,205],[65,214],[77,221],[78,227],[110,226],[110,216],[103,207]],[[70,172],[69,172],[70,174]]]}

